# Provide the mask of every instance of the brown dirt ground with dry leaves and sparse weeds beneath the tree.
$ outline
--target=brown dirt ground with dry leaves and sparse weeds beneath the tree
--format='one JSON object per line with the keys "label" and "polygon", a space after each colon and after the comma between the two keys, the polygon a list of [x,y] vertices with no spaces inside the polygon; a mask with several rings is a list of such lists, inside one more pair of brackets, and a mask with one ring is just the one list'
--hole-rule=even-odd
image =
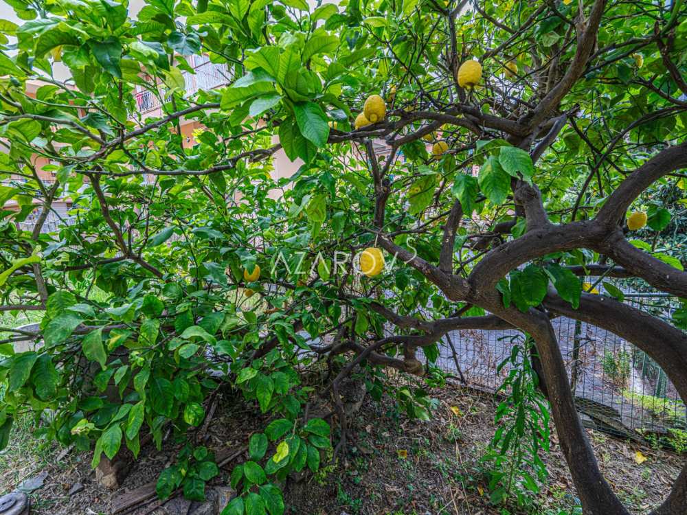
{"label": "brown dirt ground with dry leaves and sparse weeds beneath the tree", "polygon": [[[488,393],[458,386],[431,391],[438,402],[429,422],[408,420],[389,398],[366,398],[352,423],[348,453],[315,476],[290,479],[285,487],[287,513],[298,515],[572,515],[575,490],[555,433],[543,457],[549,478],[528,506],[493,506],[480,461],[495,427],[497,402]],[[240,448],[265,421],[253,407],[223,399],[205,434],[205,445]],[[0,494],[24,479],[48,472],[42,488],[32,492],[32,514],[109,514],[113,492],[98,486],[90,453],[66,453],[45,446],[31,433],[29,420],[16,424],[10,446],[0,453]],[[590,432],[605,476],[621,499],[642,514],[662,501],[684,463],[683,457],[648,446]],[[141,457],[122,488],[135,488],[157,478],[175,454],[169,439],[159,452],[152,446]],[[637,464],[640,450],[646,461]],[[214,482],[227,484],[234,464]],[[69,493],[71,490],[71,494]],[[78,490],[74,492],[74,490]],[[505,511],[504,511],[505,510]],[[134,512],[142,515],[150,507]],[[161,512],[159,512],[161,513]]]}

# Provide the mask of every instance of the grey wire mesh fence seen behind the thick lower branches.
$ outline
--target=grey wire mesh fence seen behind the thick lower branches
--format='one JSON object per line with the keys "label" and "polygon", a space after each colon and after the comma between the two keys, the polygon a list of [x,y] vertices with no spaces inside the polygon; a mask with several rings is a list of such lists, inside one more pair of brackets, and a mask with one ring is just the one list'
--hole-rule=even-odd
{"label": "grey wire mesh fence seen behind the thick lower branches", "polygon": [[[628,290],[629,288],[623,288]],[[679,307],[660,293],[626,293],[624,301],[670,319]],[[644,352],[607,330],[566,317],[552,320],[585,425],[625,436],[687,430],[687,413],[666,373]],[[437,365],[467,385],[495,391],[510,370],[517,330],[460,330],[440,345]],[[453,348],[451,348],[453,347]]]}

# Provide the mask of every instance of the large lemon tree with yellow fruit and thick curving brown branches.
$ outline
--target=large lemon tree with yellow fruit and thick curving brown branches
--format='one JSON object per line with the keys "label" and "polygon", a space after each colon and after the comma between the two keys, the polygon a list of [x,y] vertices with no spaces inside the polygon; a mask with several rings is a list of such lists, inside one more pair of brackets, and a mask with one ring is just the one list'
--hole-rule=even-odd
{"label": "large lemon tree with yellow fruit and thick curving brown branches", "polygon": [[[348,450],[344,381],[427,419],[444,336],[507,328],[524,368],[493,448],[518,466],[491,502],[538,495],[550,415],[583,511],[628,513],[552,319],[637,345],[687,400],[687,307],[599,287],[687,298],[684,1],[5,8],[0,447],[26,413],[93,466],[172,435],[158,493],[202,499],[218,470],[192,442],[221,391],[268,421],[225,512],[282,514],[289,474]],[[304,386],[318,359],[333,373]],[[683,471],[652,510],[686,507]]]}

